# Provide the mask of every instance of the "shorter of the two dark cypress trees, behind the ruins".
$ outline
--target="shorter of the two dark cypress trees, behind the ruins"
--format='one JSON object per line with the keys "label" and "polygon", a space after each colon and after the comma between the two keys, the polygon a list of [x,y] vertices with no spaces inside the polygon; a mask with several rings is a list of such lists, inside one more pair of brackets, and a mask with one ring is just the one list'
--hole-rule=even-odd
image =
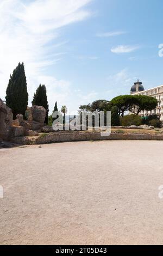
{"label": "shorter of the two dark cypress trees, behind the ruins", "polygon": [[42,106],[46,109],[45,123],[48,124],[49,105],[47,101],[46,87],[44,84],[40,84],[40,86],[37,88],[33,97],[32,105]]}

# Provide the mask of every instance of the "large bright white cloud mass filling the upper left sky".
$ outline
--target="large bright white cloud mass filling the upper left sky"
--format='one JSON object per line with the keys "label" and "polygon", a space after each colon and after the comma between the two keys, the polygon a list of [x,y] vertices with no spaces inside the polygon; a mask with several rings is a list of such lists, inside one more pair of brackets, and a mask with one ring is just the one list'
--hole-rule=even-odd
{"label": "large bright white cloud mass filling the upper left sky", "polygon": [[[82,21],[91,14],[85,5],[92,0],[1,0],[0,2],[0,97],[4,99],[9,74],[24,62],[29,103],[39,83],[45,83],[50,108],[54,100],[66,100],[71,83],[46,76],[45,69],[64,58],[59,52],[60,28]],[[42,75],[44,74],[44,75]],[[64,89],[63,89],[64,88]],[[58,94],[54,94],[57,89]],[[62,93],[64,90],[65,93]],[[54,99],[53,99],[54,98]]]}

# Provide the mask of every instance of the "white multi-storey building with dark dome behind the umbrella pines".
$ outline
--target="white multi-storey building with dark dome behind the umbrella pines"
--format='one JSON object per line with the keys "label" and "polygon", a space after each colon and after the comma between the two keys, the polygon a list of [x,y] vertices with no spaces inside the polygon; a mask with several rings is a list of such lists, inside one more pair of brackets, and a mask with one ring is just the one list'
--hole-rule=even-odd
{"label": "white multi-storey building with dark dome behind the umbrella pines", "polygon": [[160,115],[160,121],[163,122],[163,85],[145,90],[142,83],[137,81],[134,83],[134,86],[131,87],[130,94],[155,97],[155,99],[158,100],[158,106],[152,111],[141,111],[140,115],[145,117],[147,115],[157,114]]}

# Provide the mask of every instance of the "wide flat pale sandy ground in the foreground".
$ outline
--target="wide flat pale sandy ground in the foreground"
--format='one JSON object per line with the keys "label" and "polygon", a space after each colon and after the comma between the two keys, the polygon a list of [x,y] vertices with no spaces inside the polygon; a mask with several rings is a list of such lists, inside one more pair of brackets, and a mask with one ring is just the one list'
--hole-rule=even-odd
{"label": "wide flat pale sandy ground in the foreground", "polygon": [[1,245],[163,245],[162,141],[0,149]]}

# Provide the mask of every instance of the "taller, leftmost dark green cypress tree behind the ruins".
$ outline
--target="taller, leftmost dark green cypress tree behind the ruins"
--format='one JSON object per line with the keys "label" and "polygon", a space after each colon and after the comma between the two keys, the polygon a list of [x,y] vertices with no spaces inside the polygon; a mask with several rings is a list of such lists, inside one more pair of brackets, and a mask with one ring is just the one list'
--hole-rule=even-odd
{"label": "taller, leftmost dark green cypress tree behind the ruins", "polygon": [[24,71],[24,63],[18,63],[8,83],[5,100],[7,106],[12,109],[13,117],[17,114],[25,115],[28,105],[27,80]]}

